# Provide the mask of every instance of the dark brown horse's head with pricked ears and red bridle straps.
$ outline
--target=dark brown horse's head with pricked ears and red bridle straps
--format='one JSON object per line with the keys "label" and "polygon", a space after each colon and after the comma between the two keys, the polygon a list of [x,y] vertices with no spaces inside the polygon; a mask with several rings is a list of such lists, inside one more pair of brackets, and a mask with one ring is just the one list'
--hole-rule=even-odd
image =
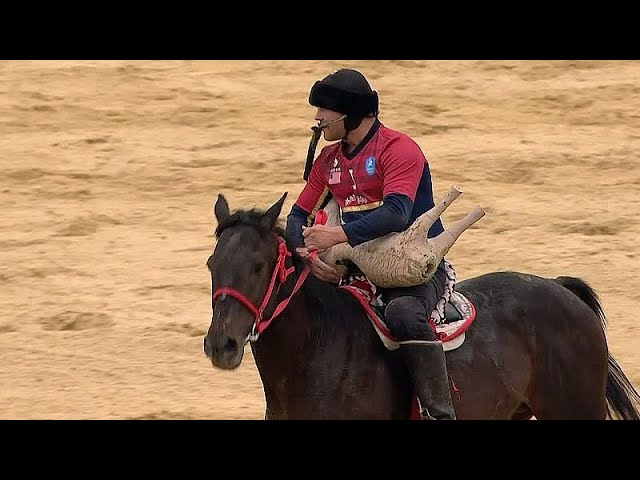
{"label": "dark brown horse's head with pricked ears and red bridle straps", "polygon": [[275,232],[286,196],[266,211],[234,214],[224,196],[218,196],[214,207],[217,243],[207,260],[212,318],[204,339],[204,351],[214,367],[233,369],[240,365],[244,345],[254,333],[262,309],[275,296],[271,289],[281,280],[277,274],[284,257],[284,244]]}

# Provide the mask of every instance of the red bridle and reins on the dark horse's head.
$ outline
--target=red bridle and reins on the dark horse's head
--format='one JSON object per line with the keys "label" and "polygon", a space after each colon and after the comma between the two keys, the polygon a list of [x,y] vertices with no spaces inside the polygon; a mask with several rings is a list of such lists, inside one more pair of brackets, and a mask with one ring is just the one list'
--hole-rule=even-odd
{"label": "red bridle and reins on the dark horse's head", "polygon": [[[326,212],[324,210],[318,211],[315,218],[315,224],[324,225],[326,221],[327,221]],[[251,302],[251,300],[249,300],[245,295],[240,293],[235,288],[221,287],[221,288],[218,288],[215,292],[213,292],[214,303],[216,299],[218,299],[219,297],[223,295],[229,295],[230,297],[233,297],[236,300],[238,300],[245,307],[247,307],[247,309],[249,309],[251,313],[253,313],[253,317],[254,317],[253,329],[251,331],[251,334],[248,337],[248,339],[251,341],[257,340],[258,336],[264,331],[265,328],[269,326],[269,324],[273,321],[273,319],[276,318],[278,315],[280,315],[282,311],[287,307],[291,298],[293,298],[293,296],[298,292],[298,290],[300,290],[300,287],[302,287],[302,284],[307,279],[307,276],[311,271],[311,262],[313,262],[316,255],[318,254],[317,251],[313,251],[309,254],[308,259],[310,261],[307,263],[307,265],[304,267],[304,270],[298,277],[298,280],[296,281],[296,284],[293,287],[291,294],[276,306],[275,310],[273,311],[273,313],[268,319],[265,319],[264,310],[265,308],[267,308],[267,304],[271,299],[273,290],[276,287],[276,282],[279,282],[278,287],[276,289],[276,294],[277,294],[277,292],[280,290],[280,287],[282,286],[282,284],[284,284],[284,282],[289,277],[289,275],[291,275],[295,271],[295,268],[293,266],[287,268],[285,265],[287,258],[291,257],[291,252],[287,249],[287,245],[285,241],[280,237],[277,237],[277,239],[278,239],[278,259],[276,260],[276,266],[273,269],[273,274],[271,275],[271,281],[269,282],[269,287],[267,288],[267,291],[264,294],[262,302],[260,303],[260,306],[258,308],[255,307],[255,305]]]}

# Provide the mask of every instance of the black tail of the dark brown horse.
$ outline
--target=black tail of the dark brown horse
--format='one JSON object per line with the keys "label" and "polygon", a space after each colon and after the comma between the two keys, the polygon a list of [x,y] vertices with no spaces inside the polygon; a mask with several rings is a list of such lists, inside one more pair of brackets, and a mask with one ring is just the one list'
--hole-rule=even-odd
{"label": "black tail of the dark brown horse", "polygon": [[[593,288],[580,278],[557,277],[555,280],[577,295],[595,312],[600,318],[604,331],[607,320],[600,299]],[[640,404],[640,394],[624,374],[611,352],[608,352],[608,372],[606,397],[609,418],[615,416],[622,420],[640,420],[640,411],[637,407]]]}

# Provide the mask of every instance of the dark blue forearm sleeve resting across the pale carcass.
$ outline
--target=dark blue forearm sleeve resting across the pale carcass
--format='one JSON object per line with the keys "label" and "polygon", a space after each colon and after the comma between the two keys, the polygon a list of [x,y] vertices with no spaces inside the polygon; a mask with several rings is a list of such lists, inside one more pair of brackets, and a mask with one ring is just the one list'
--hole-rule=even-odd
{"label": "dark blue forearm sleeve resting across the pale carcass", "polygon": [[412,209],[413,202],[406,195],[387,195],[380,207],[361,219],[342,226],[349,245],[355,247],[388,233],[404,230]]}

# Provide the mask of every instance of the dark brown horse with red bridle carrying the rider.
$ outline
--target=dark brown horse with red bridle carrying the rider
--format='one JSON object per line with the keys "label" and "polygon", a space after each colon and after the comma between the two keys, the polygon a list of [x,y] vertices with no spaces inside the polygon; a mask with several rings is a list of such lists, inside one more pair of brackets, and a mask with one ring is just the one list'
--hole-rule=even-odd
{"label": "dark brown horse with red bridle carrying the rider", "polygon": [[[250,342],[266,419],[407,419],[407,373],[357,300],[309,275],[278,217],[215,204],[204,351],[237,368]],[[458,419],[640,419],[640,396],[608,350],[605,316],[582,280],[494,272],[456,285],[477,316],[447,352]]]}

